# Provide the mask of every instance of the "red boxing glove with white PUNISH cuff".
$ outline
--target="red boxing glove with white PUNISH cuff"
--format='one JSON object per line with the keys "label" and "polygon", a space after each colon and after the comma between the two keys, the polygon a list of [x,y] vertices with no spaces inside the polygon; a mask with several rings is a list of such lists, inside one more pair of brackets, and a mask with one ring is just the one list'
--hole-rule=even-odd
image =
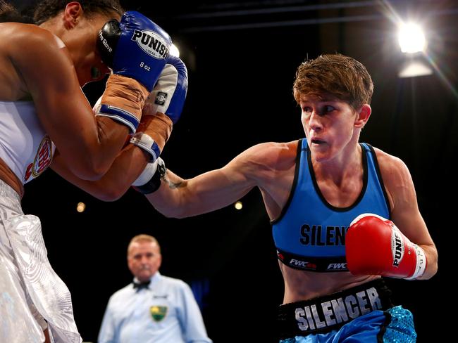
{"label": "red boxing glove with white PUNISH cuff", "polygon": [[423,249],[412,243],[395,224],[365,213],[357,216],[345,235],[347,268],[354,275],[380,275],[408,280],[426,269]]}

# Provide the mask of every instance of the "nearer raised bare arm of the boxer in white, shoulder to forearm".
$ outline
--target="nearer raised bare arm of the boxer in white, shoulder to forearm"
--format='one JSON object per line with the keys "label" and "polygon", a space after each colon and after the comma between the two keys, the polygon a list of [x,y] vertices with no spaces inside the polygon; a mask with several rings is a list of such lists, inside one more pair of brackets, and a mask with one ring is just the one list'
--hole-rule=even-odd
{"label": "nearer raised bare arm of the boxer in white, shoulder to forearm", "polygon": [[7,53],[44,130],[74,175],[99,179],[123,147],[127,127],[94,117],[60,39],[35,25],[11,26],[11,34],[2,35],[11,39]]}

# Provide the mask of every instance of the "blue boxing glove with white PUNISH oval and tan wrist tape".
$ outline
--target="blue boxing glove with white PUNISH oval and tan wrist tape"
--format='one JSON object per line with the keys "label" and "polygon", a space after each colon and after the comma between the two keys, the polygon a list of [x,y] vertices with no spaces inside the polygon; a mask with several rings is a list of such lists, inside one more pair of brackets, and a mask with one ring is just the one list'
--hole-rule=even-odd
{"label": "blue boxing glove with white PUNISH oval and tan wrist tape", "polygon": [[134,134],[171,44],[168,34],[141,13],[128,11],[120,22],[106,22],[99,32],[98,47],[113,74],[106,82],[97,115],[127,125]]}

